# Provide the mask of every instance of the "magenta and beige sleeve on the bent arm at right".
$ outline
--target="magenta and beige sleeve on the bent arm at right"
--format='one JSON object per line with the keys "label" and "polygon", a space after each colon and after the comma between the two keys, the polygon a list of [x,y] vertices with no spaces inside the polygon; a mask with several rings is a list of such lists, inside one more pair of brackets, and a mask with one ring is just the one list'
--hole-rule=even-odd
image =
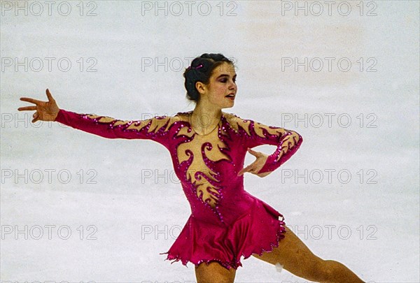
{"label": "magenta and beige sleeve on the bent arm at right", "polygon": [[266,126],[250,119],[237,117],[238,124],[244,129],[242,141],[244,146],[252,148],[258,145],[276,145],[276,150],[270,154],[265,165],[258,173],[276,170],[284,164],[299,149],[302,136],[295,131]]}

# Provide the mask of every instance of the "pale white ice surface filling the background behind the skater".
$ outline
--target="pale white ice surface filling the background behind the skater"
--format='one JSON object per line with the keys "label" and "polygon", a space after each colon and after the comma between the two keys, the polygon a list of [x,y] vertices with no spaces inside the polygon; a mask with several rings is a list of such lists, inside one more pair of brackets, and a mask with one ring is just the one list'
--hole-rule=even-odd
{"label": "pale white ice surface filling the background behind the skater", "polygon": [[[192,110],[183,71],[202,53],[222,53],[239,87],[224,111],[304,138],[271,175],[246,173],[245,189],[321,258],[366,282],[419,282],[419,2],[342,2],[300,1],[305,15],[295,1],[195,1],[190,11],[186,1],[19,1],[21,10],[1,1],[1,280],[195,281],[192,263],[159,254],[190,215],[165,147],[31,124],[33,111],[17,108],[29,105],[22,96],[46,100],[49,88],[76,113]],[[308,63],[286,66],[289,58]],[[253,257],[242,263],[235,282],[304,282]]]}

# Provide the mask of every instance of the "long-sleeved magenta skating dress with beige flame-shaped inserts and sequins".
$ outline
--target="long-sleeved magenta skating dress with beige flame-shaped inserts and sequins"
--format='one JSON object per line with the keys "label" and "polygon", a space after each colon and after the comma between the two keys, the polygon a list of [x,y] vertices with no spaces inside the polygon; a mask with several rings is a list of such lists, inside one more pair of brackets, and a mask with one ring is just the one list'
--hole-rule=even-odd
{"label": "long-sleeved magenta skating dress with beige flame-shaped inserts and sequins", "polygon": [[160,254],[184,266],[188,261],[195,266],[218,261],[237,269],[241,256],[272,251],[286,232],[283,215],[245,191],[244,175],[237,176],[244,168],[247,147],[276,145],[258,172],[265,173],[286,162],[300,147],[302,136],[224,112],[211,133],[200,135],[190,126],[192,113],[123,121],[61,109],[55,121],[104,138],[150,139],[164,145],[191,215],[169,251]]}

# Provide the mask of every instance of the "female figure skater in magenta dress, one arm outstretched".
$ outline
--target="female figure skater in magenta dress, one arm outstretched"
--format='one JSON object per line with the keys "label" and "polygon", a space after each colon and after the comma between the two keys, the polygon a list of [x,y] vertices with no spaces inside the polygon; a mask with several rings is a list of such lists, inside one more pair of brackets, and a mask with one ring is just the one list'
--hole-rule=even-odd
{"label": "female figure skater in magenta dress, one arm outstretched", "polygon": [[[313,254],[290,231],[284,217],[244,190],[244,173],[265,177],[295,154],[302,136],[277,126],[225,113],[237,96],[235,65],[221,54],[195,58],[183,73],[187,98],[195,109],[173,116],[123,121],[60,109],[48,101],[18,110],[35,110],[32,122],[57,121],[104,138],[151,139],[169,150],[191,215],[167,259],[195,265],[197,282],[234,282],[244,259],[255,258],[314,282],[363,282],[342,263]],[[273,154],[251,150],[275,145]],[[256,159],[244,168],[246,152]],[[281,217],[281,219],[279,219]]]}

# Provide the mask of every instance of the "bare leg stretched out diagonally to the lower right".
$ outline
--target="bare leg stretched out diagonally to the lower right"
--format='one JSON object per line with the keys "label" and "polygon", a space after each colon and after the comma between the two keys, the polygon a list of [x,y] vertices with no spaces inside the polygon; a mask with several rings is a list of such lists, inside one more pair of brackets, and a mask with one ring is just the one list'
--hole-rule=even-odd
{"label": "bare leg stretched out diagonally to the lower right", "polygon": [[280,263],[290,273],[314,282],[363,282],[342,263],[323,260],[313,254],[295,233],[287,226],[285,228],[285,238],[279,241],[279,247],[262,256],[253,256],[274,265]]}

